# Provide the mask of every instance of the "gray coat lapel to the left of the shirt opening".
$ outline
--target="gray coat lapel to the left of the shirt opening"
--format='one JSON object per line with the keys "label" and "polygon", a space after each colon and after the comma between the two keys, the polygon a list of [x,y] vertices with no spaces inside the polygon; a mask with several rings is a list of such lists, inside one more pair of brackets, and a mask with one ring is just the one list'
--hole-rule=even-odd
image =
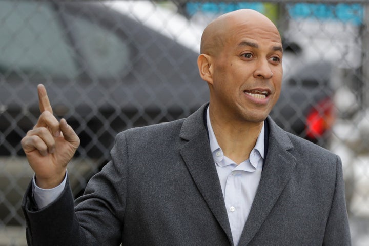
{"label": "gray coat lapel to the left of the shirt opening", "polygon": [[192,175],[194,182],[221,228],[232,242],[224,198],[213,156],[210,150],[207,129],[204,124],[204,113],[207,105],[202,106],[188,117],[182,125],[180,137],[183,143],[180,154]]}

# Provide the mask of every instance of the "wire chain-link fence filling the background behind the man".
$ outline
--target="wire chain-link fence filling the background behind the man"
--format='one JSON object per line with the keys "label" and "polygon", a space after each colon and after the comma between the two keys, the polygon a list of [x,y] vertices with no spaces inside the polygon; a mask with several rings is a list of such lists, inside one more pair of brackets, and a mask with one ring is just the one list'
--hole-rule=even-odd
{"label": "wire chain-link fence filling the background behind the man", "polygon": [[78,196],[117,132],[208,101],[200,36],[239,8],[279,28],[284,80],[271,116],[341,156],[353,244],[369,245],[369,4],[351,0],[0,2],[0,245],[26,244],[20,205],[33,173],[20,139],[39,115],[37,84],[81,139],[69,165]]}

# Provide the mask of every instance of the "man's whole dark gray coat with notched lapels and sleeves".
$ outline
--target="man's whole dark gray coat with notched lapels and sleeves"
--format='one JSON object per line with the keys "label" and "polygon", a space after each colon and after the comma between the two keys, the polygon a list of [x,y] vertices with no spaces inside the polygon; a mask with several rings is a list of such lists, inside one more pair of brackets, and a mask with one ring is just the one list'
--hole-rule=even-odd
{"label": "man's whole dark gray coat with notched lapels and sleeves", "polygon": [[[205,110],[118,134],[112,161],[75,204],[67,185],[38,210],[29,186],[29,245],[233,245]],[[268,154],[239,245],[350,245],[340,158],[266,122]]]}

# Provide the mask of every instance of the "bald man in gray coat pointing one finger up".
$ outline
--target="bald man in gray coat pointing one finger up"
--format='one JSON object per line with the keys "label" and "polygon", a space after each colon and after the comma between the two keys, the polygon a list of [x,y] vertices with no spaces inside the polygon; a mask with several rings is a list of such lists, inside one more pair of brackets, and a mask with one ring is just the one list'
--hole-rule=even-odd
{"label": "bald man in gray coat pointing one finger up", "polygon": [[[275,25],[220,16],[198,57],[210,103],[186,119],[118,134],[110,161],[73,204],[79,145],[43,86],[22,139],[35,171],[23,203],[30,245],[350,245],[338,156],[268,117],[281,90]],[[46,190],[42,190],[46,189]]]}

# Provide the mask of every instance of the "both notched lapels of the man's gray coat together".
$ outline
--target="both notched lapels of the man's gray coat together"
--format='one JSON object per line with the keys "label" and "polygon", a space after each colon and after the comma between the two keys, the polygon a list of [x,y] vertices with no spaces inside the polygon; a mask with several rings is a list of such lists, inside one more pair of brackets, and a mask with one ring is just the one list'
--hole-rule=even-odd
{"label": "both notched lapels of the man's gray coat together", "polygon": [[[179,135],[183,140],[180,153],[204,200],[232,242],[226,206],[210,150],[207,124],[204,122],[208,105],[201,106],[183,121]],[[269,136],[268,153],[264,157],[265,167],[239,245],[247,245],[255,236],[289,181],[296,164],[295,157],[290,153],[293,145],[286,132],[270,117],[266,122]]]}

